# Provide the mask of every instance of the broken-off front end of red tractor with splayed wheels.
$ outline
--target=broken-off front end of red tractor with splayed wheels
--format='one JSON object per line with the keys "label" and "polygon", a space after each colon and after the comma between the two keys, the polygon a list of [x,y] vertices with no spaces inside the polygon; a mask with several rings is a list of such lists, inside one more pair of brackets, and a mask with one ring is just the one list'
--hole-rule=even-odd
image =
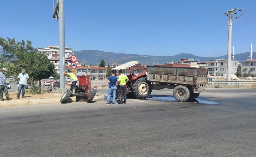
{"label": "broken-off front end of red tractor with splayed wheels", "polygon": [[92,102],[94,96],[96,95],[97,90],[91,87],[91,76],[77,76],[79,86],[76,86],[73,89],[73,94],[71,90],[67,90],[60,99],[60,103],[65,103],[69,97],[75,96],[76,101],[88,103]]}

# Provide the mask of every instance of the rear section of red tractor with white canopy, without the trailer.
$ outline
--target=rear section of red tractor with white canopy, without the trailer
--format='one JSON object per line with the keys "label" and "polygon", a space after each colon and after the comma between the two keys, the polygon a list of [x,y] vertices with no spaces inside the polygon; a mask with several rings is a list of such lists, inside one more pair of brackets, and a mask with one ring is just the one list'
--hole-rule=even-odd
{"label": "rear section of red tractor with white canopy, without the trailer", "polygon": [[[140,74],[139,75],[135,75],[134,73],[132,73],[131,71],[131,67],[132,66],[137,66]],[[146,97],[148,97],[150,95],[150,93],[152,92],[152,85],[150,81],[147,81],[147,75],[144,74],[140,68],[139,68],[140,64],[138,61],[130,61],[127,62],[125,64],[122,64],[120,66],[117,66],[111,70],[124,70],[129,68],[130,74],[127,75],[129,81],[126,83],[126,95],[130,96],[130,97],[137,97],[137,98],[141,98],[141,99],[145,99]],[[116,99],[119,99],[119,91],[117,89],[116,92]]]}

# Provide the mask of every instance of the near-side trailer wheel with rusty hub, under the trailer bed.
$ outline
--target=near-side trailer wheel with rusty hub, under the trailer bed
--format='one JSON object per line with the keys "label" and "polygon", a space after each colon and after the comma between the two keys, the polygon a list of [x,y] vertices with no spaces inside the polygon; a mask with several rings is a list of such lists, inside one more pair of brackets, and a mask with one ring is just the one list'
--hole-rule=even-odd
{"label": "near-side trailer wheel with rusty hub, under the trailer bed", "polygon": [[173,96],[177,101],[185,102],[190,96],[190,92],[185,86],[177,86],[173,90]]}

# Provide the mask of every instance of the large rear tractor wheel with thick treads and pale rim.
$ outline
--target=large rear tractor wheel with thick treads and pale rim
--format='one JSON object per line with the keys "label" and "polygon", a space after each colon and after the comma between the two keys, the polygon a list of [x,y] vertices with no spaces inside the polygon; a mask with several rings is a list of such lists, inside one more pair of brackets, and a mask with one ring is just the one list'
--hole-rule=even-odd
{"label": "large rear tractor wheel with thick treads and pale rim", "polygon": [[134,96],[145,99],[151,93],[151,84],[145,78],[137,79],[133,84]]}

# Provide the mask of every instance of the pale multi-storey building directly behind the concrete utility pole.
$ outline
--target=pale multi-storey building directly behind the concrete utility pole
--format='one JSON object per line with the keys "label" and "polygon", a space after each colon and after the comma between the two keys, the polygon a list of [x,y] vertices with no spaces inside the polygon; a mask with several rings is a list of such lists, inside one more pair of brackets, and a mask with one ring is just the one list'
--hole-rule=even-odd
{"label": "pale multi-storey building directly behind the concrete utility pole", "polygon": [[[213,72],[214,74],[218,74],[223,76],[227,74],[227,59],[216,59],[213,61],[204,61],[206,62],[206,66],[204,68],[208,69],[209,73]],[[231,74],[235,74],[237,72],[238,61],[231,60]]]}

